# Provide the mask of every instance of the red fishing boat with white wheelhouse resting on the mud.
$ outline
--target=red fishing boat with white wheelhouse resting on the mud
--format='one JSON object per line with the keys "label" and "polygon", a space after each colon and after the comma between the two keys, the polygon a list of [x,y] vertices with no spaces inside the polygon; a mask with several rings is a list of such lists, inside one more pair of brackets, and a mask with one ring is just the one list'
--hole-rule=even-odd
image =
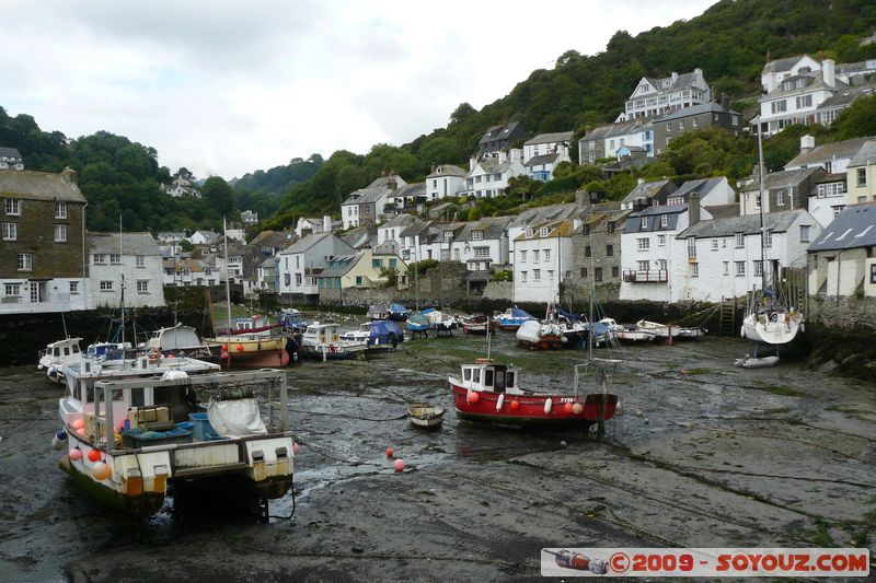
{"label": "red fishing boat with white wheelhouse resting on the mud", "polygon": [[575,385],[567,393],[548,393],[518,386],[519,374],[514,364],[498,364],[477,359],[463,364],[461,376],[450,376],[453,405],[460,419],[495,424],[523,427],[580,427],[604,422],[618,408],[618,396],[608,393],[604,372],[595,364],[600,393],[578,392]]}

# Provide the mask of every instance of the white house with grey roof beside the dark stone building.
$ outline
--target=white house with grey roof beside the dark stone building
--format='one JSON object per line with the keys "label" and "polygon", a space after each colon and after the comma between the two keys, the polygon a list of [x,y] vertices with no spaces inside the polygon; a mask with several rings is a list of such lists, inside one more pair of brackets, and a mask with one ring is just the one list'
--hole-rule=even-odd
{"label": "white house with grey roof beside the dark stone building", "polygon": [[163,265],[149,233],[89,233],[89,283],[93,307],[164,305]]}

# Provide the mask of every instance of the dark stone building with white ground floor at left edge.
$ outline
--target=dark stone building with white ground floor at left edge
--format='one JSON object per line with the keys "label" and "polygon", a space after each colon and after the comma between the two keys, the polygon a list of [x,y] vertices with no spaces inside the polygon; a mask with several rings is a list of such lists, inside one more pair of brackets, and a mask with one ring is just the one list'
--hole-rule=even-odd
{"label": "dark stone building with white ground floor at left edge", "polygon": [[77,173],[0,171],[0,313],[91,307]]}

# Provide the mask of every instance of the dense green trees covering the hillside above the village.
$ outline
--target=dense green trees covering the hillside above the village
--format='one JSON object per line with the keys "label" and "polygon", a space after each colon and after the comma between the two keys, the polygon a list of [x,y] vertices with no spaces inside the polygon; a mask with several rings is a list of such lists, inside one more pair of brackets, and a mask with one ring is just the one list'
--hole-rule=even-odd
{"label": "dense green trees covering the hillside above the village", "polygon": [[[232,187],[220,177],[204,184],[203,200],[174,199],[160,185],[172,178],[158,165],[158,152],[128,138],[101,131],[68,139],[43,131],[33,117],[7,115],[0,107],[0,145],[18,148],[28,170],[59,172],[69,165],[80,173],[89,198],[89,229],[181,230],[218,228],[222,214],[241,209],[260,213],[267,228],[288,225],[302,214],[337,214],[339,203],[388,171],[407,182],[424,179],[433,164],[466,167],[477,141],[493,125],[518,120],[532,135],[574,130],[613,120],[644,75],[701,68],[715,93],[727,93],[734,107],[750,108],[759,92],[760,71],[772,58],[808,53],[838,62],[876,57],[876,45],[858,46],[876,28],[872,0],[722,0],[702,15],[655,27],[635,37],[615,33],[606,50],[561,55],[553,69],[533,71],[508,95],[476,110],[468,103],[450,114],[447,127],[403,145],[376,144],[366,154],[337,151],[327,160],[312,154],[286,166],[256,171]],[[569,43],[573,43],[570,39]],[[805,128],[791,128],[766,143],[766,166],[781,167],[798,148]],[[819,143],[876,135],[876,98],[856,103],[833,129],[808,128]],[[573,147],[574,150],[574,147]],[[576,154],[573,151],[573,159]],[[465,217],[512,212],[520,202],[548,203],[569,199],[578,188],[601,190],[619,198],[638,176],[704,177],[748,175],[756,159],[754,141],[717,130],[691,132],[673,140],[667,151],[636,175],[603,180],[592,166],[567,165],[551,183],[516,180],[505,200],[479,201]],[[181,168],[181,171],[184,168]],[[176,173],[178,174],[178,172]]]}

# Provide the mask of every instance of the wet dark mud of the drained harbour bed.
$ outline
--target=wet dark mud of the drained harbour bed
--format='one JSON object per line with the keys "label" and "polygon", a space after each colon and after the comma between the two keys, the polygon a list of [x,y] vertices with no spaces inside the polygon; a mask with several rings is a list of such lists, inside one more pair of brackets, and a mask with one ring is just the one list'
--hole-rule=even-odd
{"label": "wet dark mud of the drained harbour bed", "polygon": [[[0,369],[0,581],[523,581],[543,547],[876,548],[873,386],[734,368],[734,339],[623,348],[622,412],[595,442],[458,421],[447,375],[485,348],[458,335],[290,368],[295,499],[266,522],[203,491],[146,524],[105,511],[57,467],[60,387]],[[586,358],[504,334],[492,352],[545,388]],[[445,406],[439,429],[407,421],[419,400]]]}

